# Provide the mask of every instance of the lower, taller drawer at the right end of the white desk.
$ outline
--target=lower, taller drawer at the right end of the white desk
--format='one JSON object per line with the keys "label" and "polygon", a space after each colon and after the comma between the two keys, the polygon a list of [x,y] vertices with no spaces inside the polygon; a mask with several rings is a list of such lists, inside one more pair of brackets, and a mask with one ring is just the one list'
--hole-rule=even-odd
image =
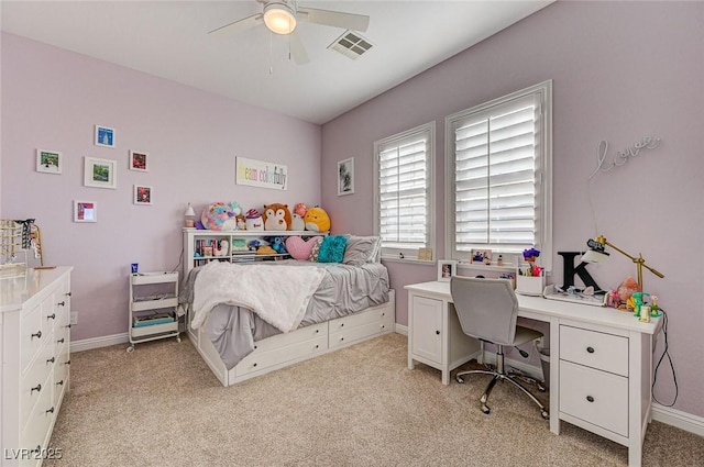
{"label": "lower, taller drawer at the right end of the white desk", "polygon": [[628,436],[628,378],[560,362],[560,412]]}

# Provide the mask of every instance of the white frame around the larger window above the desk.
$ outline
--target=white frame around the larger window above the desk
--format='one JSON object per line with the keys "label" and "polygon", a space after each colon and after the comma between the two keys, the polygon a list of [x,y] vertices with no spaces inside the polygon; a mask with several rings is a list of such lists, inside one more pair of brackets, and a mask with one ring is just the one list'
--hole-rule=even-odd
{"label": "white frame around the larger window above the desk", "polygon": [[[446,207],[446,257],[470,262],[469,252],[459,252],[457,249],[455,238],[455,138],[454,126],[462,120],[470,119],[477,113],[486,112],[498,105],[507,104],[510,101],[525,99],[526,97],[538,97],[540,102],[540,118],[538,119],[539,137],[538,155],[540,166],[535,171],[536,188],[539,192],[536,194],[536,205],[540,210],[540,237],[537,238],[536,245],[541,251],[540,264],[550,271],[552,270],[552,80],[542,81],[538,85],[530,86],[507,96],[491,100],[488,102],[462,110],[446,116],[444,120],[444,155],[446,155],[446,189],[444,189],[444,207]],[[499,245],[488,246],[494,256],[496,254],[512,255],[519,257],[517,252],[502,252]],[[470,262],[471,263],[471,262]]]}

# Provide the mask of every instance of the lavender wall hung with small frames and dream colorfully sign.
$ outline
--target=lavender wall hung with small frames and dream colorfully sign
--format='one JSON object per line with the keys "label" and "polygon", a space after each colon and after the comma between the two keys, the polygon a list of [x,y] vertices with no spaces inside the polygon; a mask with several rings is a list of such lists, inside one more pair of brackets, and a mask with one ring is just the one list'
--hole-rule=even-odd
{"label": "lavender wall hung with small frames and dream colorfully sign", "polygon": [[[130,263],[177,267],[187,202],[320,202],[319,125],[8,34],[1,110],[0,215],[36,218],[46,263],[75,267],[74,340],[127,332]],[[94,145],[95,124],[117,148]],[[63,152],[63,175],[35,171],[37,147]],[[128,169],[130,149],[150,153],[148,173]],[[288,165],[288,190],[237,186],[235,155]],[[85,156],[117,160],[117,190],[82,186]],[[153,205],[132,203],[134,184]],[[98,202],[97,223],[72,222],[76,199]]]}

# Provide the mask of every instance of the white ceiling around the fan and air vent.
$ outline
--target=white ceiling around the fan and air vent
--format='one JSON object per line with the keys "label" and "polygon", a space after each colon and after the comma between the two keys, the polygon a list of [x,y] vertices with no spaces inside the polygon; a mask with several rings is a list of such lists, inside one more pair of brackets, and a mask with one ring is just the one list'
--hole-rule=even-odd
{"label": "white ceiling around the fan and air vent", "polygon": [[551,2],[299,0],[370,15],[363,36],[374,45],[351,60],[327,48],[343,30],[299,23],[306,65],[264,25],[208,34],[261,12],[255,0],[2,0],[0,15],[2,31],[321,124]]}

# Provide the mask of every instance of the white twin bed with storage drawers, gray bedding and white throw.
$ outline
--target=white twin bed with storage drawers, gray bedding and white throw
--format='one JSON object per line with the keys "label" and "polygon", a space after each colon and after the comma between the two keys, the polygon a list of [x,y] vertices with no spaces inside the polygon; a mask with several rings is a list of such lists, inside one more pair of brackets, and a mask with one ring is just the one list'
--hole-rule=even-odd
{"label": "white twin bed with storage drawers, gray bedding and white throw", "polygon": [[391,333],[395,323],[394,290],[377,254],[343,263],[211,262],[188,270],[179,302],[190,341],[223,386]]}

